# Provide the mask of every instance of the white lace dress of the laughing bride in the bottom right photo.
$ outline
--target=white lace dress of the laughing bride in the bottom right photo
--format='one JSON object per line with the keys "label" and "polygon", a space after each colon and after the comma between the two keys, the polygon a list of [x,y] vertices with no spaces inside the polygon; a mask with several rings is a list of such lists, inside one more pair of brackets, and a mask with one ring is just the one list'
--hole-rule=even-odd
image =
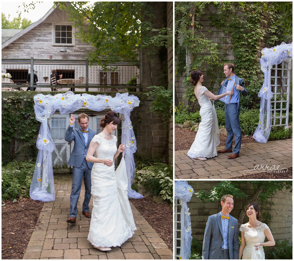
{"label": "white lace dress of the laughing bride in the bottom right photo", "polygon": [[[266,224],[262,223],[256,228],[247,228],[243,225],[240,226],[240,231],[244,232],[246,247],[243,250],[242,259],[251,259],[252,251],[255,251],[254,245],[257,243],[264,243],[266,238],[264,230],[269,228]],[[259,247],[260,253],[263,258],[265,257],[263,247]]]}

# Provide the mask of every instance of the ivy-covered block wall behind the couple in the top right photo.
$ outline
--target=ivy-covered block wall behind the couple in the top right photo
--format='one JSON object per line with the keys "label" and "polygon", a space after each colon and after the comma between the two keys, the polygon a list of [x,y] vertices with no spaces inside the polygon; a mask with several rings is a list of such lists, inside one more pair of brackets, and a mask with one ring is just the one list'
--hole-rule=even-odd
{"label": "ivy-covered block wall behind the couple in the top right photo", "polygon": [[[175,3],[176,76],[185,72],[184,99],[190,111],[193,108],[191,105],[195,104],[194,87],[189,83],[190,71],[210,72],[207,76],[213,86],[217,78],[224,78],[223,64],[227,62],[236,65],[235,73],[245,80],[248,89],[248,96],[240,100],[241,107],[259,106],[257,95],[263,82],[260,50],[289,39],[289,33],[283,36],[283,33],[289,32],[289,25],[283,23],[285,20],[280,10],[274,2]],[[212,27],[208,32],[218,33],[217,43],[208,40],[201,32],[204,13],[210,14]],[[231,53],[234,59],[227,60]]]}

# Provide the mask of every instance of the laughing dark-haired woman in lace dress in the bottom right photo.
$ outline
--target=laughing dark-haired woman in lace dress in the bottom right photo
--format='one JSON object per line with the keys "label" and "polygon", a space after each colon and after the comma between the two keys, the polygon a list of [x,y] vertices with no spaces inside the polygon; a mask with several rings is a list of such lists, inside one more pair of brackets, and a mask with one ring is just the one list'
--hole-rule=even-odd
{"label": "laughing dark-haired woman in lace dress in the bottom right photo", "polygon": [[[265,259],[263,246],[274,246],[275,240],[270,232],[269,227],[259,221],[260,212],[259,207],[255,203],[250,203],[246,211],[249,217],[249,222],[240,226],[241,231],[241,245],[239,248],[239,259],[251,259],[253,251],[259,250],[262,258]],[[265,238],[268,241],[264,243]]]}

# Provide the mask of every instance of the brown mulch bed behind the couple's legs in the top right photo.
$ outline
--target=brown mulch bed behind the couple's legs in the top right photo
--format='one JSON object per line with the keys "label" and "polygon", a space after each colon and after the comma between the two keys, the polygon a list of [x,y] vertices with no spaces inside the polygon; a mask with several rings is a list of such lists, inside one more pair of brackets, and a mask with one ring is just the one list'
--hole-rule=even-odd
{"label": "brown mulch bed behind the couple's legs in the top right photo", "polygon": [[[196,132],[175,126],[175,151],[177,150],[189,150],[194,142]],[[218,135],[220,138],[219,146],[226,146],[227,135]],[[245,137],[242,135],[242,144],[256,142],[252,136]],[[256,142],[257,143],[257,142]],[[235,138],[233,139],[233,147],[235,146]]]}

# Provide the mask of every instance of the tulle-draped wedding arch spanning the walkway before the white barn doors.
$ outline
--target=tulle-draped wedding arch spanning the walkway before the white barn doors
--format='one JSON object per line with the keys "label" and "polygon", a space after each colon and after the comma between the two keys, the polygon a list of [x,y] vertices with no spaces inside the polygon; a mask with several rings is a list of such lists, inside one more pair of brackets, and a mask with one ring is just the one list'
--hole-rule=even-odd
{"label": "tulle-draped wedding arch spanning the walkway before the white barn doors", "polygon": [[30,187],[30,197],[39,201],[54,201],[54,177],[52,166],[52,152],[55,144],[51,138],[47,119],[56,110],[60,114],[73,113],[82,108],[92,111],[102,111],[110,108],[112,111],[124,115],[122,121],[122,140],[126,145],[125,162],[128,176],[128,196],[132,198],[142,198],[143,196],[131,188],[136,175],[134,153],[137,150],[136,137],[134,134],[130,113],[134,107],[138,107],[140,100],[134,95],[126,93],[116,93],[115,97],[107,95],[90,95],[87,93],[74,94],[73,92],[51,94],[37,94],[34,96],[34,110],[36,120],[41,123],[36,146],[39,149],[32,183]]}

